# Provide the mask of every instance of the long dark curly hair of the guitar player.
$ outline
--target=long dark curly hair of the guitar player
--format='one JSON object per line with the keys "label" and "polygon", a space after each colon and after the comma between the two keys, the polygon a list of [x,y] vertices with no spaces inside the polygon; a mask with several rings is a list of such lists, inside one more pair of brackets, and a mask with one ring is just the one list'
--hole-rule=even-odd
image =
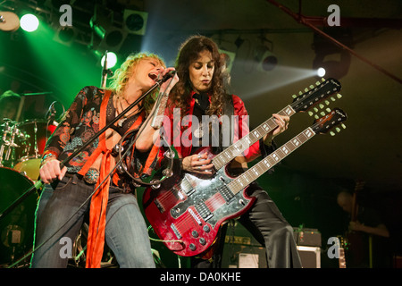
{"label": "long dark curly hair of the guitar player", "polygon": [[180,52],[176,59],[176,71],[179,76],[179,82],[176,83],[171,92],[171,100],[174,107],[181,109],[181,116],[188,114],[192,84],[189,79],[188,68],[191,63],[197,60],[203,51],[211,53],[214,60],[214,75],[212,78],[211,88],[208,94],[211,95],[211,105],[206,114],[221,114],[224,97],[226,97],[225,83],[229,75],[224,71],[224,63],[219,53],[218,46],[211,38],[205,36],[191,36],[181,46]]}

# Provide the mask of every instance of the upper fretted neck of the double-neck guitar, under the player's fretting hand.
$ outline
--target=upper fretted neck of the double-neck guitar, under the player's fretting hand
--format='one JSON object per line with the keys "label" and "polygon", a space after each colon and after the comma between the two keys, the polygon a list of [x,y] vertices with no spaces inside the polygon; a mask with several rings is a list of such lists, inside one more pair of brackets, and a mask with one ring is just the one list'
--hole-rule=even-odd
{"label": "upper fretted neck of the double-neck guitar, under the player's fretting hand", "polygon": [[[296,112],[294,109],[288,105],[283,108],[278,114],[291,116]],[[278,124],[273,117],[269,118],[265,122],[261,123],[255,130],[249,132],[242,139],[239,139],[236,143],[227,147],[222,153],[218,154],[213,159],[213,164],[216,170],[221,169],[223,166],[228,164],[235,157],[240,156],[248,147],[255,144],[256,141],[262,139],[266,134],[278,127]]]}

